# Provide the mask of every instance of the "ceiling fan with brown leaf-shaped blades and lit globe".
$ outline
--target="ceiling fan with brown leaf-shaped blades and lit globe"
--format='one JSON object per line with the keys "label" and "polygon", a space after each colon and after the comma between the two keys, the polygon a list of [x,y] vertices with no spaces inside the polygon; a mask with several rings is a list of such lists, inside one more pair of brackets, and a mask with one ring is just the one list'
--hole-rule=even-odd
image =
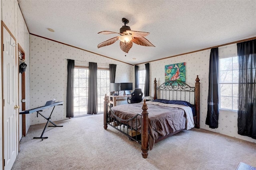
{"label": "ceiling fan with brown leaf-shaped blades and lit globe", "polygon": [[[104,47],[107,45],[111,45],[114,42],[116,42],[118,39],[120,40],[120,48],[125,53],[128,53],[128,51],[132,48],[132,43],[136,43],[138,45],[148,46],[148,47],[155,47],[152,43],[150,43],[146,38],[149,33],[148,32],[141,32],[141,31],[131,31],[130,27],[126,24],[129,23],[129,20],[126,18],[122,18],[122,22],[124,25],[120,28],[120,36],[111,38],[107,41],[104,41],[98,45],[98,48]],[[116,32],[112,31],[101,31],[99,34],[112,34]]]}

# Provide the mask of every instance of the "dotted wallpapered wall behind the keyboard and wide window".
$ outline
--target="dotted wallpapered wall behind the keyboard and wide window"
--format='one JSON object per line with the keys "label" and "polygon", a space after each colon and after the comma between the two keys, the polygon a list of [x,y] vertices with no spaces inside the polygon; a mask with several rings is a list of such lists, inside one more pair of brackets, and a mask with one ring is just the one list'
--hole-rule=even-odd
{"label": "dotted wallpapered wall behind the keyboard and wide window", "polygon": [[[116,66],[116,82],[132,82],[130,71],[132,66],[87,51],[76,49],[61,43],[30,35],[30,108],[43,106],[46,101],[56,99],[64,101],[63,106],[56,106],[52,121],[66,119],[66,82],[67,60],[88,65],[98,63],[98,67],[109,64]],[[43,114],[49,116],[52,108],[44,109]],[[45,123],[42,117],[31,114],[31,125]]]}

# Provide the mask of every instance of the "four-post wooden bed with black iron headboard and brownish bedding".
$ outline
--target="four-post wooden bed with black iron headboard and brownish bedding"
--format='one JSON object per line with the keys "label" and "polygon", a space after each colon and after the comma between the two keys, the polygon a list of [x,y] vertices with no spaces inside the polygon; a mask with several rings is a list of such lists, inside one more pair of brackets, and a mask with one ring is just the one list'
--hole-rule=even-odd
{"label": "four-post wooden bed with black iron headboard and brownish bedding", "polygon": [[170,81],[157,86],[154,80],[154,100],[138,104],[110,107],[104,98],[104,129],[108,125],[130,140],[141,144],[142,157],[154,144],[184,129],[200,128],[200,82],[195,86]]}

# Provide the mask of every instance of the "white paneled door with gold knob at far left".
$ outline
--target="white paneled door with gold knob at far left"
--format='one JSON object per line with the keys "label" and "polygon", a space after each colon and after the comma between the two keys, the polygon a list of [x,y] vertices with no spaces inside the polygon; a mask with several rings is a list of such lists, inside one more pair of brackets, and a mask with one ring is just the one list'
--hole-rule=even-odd
{"label": "white paneled door with gold knob at far left", "polygon": [[9,170],[17,156],[17,113],[16,106],[16,92],[17,84],[16,78],[18,76],[16,66],[16,47],[12,47],[11,43],[15,44],[14,39],[8,31],[3,27],[4,40],[4,55],[3,55],[3,100],[4,100],[4,168]]}

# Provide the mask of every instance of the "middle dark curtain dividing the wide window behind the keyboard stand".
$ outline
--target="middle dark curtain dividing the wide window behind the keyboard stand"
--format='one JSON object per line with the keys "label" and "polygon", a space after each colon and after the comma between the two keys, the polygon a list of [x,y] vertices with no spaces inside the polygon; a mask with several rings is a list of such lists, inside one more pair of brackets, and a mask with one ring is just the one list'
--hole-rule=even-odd
{"label": "middle dark curtain dividing the wide window behind the keyboard stand", "polygon": [[87,114],[98,113],[97,63],[89,62]]}

